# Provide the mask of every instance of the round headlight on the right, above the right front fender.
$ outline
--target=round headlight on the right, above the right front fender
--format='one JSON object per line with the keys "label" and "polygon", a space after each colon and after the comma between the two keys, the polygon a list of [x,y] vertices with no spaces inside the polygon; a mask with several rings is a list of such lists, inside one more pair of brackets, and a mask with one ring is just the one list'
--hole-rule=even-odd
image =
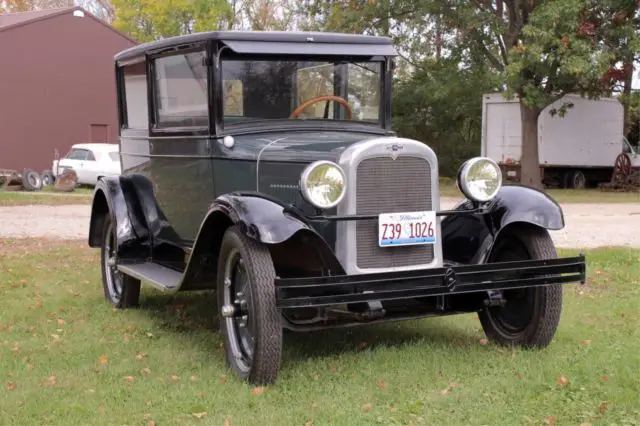
{"label": "round headlight on the right, above the right front fender", "polygon": [[502,185],[500,166],[490,158],[476,157],[465,162],[458,172],[458,188],[469,199],[489,201]]}

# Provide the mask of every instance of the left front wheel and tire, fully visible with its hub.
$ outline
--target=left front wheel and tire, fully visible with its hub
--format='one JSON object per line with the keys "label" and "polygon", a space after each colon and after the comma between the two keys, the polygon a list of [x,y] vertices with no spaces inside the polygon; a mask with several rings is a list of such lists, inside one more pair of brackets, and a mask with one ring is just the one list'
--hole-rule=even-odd
{"label": "left front wheel and tire, fully visible with its hub", "polygon": [[[276,380],[282,358],[282,320],[269,250],[237,227],[227,229],[218,259],[218,313],[226,361],[254,385]],[[223,316],[223,306],[234,306]],[[243,325],[244,324],[244,325]]]}

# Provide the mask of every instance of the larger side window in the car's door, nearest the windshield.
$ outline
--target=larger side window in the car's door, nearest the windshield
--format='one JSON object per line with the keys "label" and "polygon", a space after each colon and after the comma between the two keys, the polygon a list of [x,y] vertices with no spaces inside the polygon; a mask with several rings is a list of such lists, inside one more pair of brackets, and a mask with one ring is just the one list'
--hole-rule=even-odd
{"label": "larger side window in the car's door, nearest the windshield", "polygon": [[155,122],[159,128],[207,127],[205,52],[155,60]]}

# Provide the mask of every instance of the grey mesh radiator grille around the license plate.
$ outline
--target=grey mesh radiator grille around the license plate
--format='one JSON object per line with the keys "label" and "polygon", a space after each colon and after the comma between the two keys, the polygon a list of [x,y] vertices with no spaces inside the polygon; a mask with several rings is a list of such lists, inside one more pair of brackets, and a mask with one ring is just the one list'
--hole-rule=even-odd
{"label": "grey mesh radiator grille around the license plate", "polygon": [[[358,166],[356,213],[359,215],[431,210],[431,165],[424,158],[378,157]],[[392,268],[431,263],[433,245],[378,246],[376,221],[356,222],[358,268]]]}

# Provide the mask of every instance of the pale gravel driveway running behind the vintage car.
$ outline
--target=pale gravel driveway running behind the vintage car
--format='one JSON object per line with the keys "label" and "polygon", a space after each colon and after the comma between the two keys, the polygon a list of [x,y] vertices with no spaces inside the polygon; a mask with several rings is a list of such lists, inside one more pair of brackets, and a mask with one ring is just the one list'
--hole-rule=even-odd
{"label": "pale gravel driveway running behind the vintage car", "polygon": [[[443,199],[442,208],[455,199]],[[593,248],[629,246],[640,248],[640,203],[565,204],[566,227],[551,233],[558,247]],[[0,238],[45,237],[86,239],[90,207],[19,206],[0,207]]]}

